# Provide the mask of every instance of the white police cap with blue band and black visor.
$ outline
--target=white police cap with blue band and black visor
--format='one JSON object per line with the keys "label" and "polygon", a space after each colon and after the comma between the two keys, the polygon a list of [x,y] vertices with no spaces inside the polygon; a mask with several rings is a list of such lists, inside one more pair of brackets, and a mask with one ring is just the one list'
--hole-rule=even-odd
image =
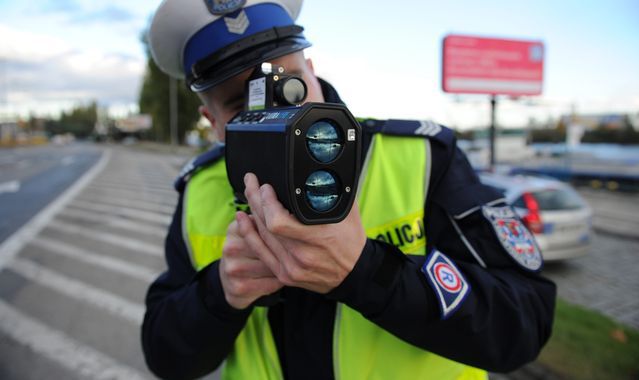
{"label": "white police cap with blue band and black visor", "polygon": [[156,64],[204,91],[310,43],[294,25],[302,0],[164,0],[149,30]]}

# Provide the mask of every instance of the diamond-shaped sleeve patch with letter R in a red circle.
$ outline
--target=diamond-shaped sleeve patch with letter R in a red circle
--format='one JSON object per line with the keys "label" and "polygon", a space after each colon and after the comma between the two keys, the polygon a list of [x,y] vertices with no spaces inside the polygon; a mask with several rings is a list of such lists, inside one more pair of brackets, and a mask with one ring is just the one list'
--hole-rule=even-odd
{"label": "diamond-shaped sleeve patch with letter R in a red circle", "polygon": [[441,318],[448,318],[462,304],[470,291],[470,285],[455,264],[436,249],[426,258],[422,273],[435,291]]}

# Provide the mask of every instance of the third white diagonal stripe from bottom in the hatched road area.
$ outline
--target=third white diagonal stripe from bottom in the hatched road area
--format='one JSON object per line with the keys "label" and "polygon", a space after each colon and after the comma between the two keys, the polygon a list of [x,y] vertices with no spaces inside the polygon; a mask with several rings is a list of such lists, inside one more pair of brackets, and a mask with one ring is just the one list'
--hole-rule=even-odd
{"label": "third white diagonal stripe from bottom in the hatched road area", "polygon": [[36,247],[40,247],[47,253],[54,253],[65,256],[70,259],[78,260],[91,264],[101,269],[107,269],[119,274],[133,277],[145,283],[150,283],[158,276],[158,272],[142,265],[133,264],[127,261],[115,259],[110,256],[91,253],[87,250],[80,249],[61,241],[51,239],[45,236],[38,236],[30,243]]}

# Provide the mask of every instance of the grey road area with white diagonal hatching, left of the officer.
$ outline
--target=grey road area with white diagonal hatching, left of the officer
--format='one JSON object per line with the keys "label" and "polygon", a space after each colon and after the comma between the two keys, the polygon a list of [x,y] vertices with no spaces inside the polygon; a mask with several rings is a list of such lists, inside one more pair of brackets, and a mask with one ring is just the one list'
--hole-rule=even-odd
{"label": "grey road area with white diagonal hatching, left of the officer", "polygon": [[[35,156],[76,149],[85,152]],[[85,187],[68,189],[66,204],[47,205],[0,245],[1,379],[152,378],[140,345],[143,301],[165,266],[171,186],[185,158],[86,150],[100,161],[80,179]]]}

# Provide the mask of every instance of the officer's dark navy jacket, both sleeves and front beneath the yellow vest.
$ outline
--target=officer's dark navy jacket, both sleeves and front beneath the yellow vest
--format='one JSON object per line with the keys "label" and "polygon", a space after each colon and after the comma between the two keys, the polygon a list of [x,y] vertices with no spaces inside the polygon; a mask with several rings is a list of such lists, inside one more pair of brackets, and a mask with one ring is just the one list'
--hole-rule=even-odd
{"label": "officer's dark navy jacket, both sleeves and front beneath the yellow vest", "polygon": [[[326,82],[322,89],[328,101],[339,102]],[[364,128],[366,147],[380,129],[383,123]],[[442,319],[437,295],[420,270],[425,257],[368,239],[353,271],[331,293],[285,288],[284,302],[269,309],[287,379],[333,378],[338,301],[417,347],[490,371],[507,372],[534,360],[549,338],[555,285],[518,266],[480,210],[456,219],[459,232],[453,225],[452,215],[490,202],[499,205],[500,194],[479,183],[452,133],[445,132],[431,144],[432,166],[438,169],[433,169],[424,206],[427,251],[436,247],[454,262],[470,285],[467,297]],[[182,239],[181,215],[180,195],[165,244],[168,270],[149,288],[142,326],[147,364],[162,378],[195,378],[215,370],[251,311],[227,304],[218,261],[195,272]]]}

